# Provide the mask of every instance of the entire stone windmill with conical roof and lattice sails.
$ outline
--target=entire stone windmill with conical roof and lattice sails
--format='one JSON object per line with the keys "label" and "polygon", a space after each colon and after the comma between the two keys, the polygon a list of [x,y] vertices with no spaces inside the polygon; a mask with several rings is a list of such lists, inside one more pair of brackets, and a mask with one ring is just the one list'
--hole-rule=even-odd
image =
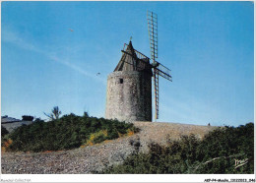
{"label": "entire stone windmill with conical roof and lattice sails", "polygon": [[159,119],[159,76],[171,81],[170,70],[158,58],[158,16],[148,12],[151,60],[124,44],[122,57],[107,78],[105,117],[119,121],[152,121],[152,77],[154,77],[156,120]]}

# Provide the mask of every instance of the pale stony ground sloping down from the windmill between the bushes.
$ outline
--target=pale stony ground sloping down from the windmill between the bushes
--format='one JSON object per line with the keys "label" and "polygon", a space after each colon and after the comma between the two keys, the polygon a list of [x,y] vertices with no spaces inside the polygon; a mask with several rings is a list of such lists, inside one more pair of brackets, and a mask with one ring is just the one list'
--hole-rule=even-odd
{"label": "pale stony ground sloping down from the windmill between the bushes", "polygon": [[216,127],[177,123],[135,122],[141,131],[101,144],[59,152],[4,152],[2,173],[8,174],[74,174],[94,173],[112,164],[121,163],[132,152],[147,152],[152,142],[166,144],[181,135],[196,134],[202,138]]}

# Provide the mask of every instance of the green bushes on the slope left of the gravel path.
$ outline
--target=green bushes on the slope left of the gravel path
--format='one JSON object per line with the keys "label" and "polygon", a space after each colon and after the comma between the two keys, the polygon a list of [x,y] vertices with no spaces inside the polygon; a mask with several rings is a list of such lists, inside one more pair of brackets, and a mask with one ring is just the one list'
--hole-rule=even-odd
{"label": "green bushes on the slope left of the gravel path", "polygon": [[[92,134],[99,136],[92,142],[118,138],[118,134],[126,134],[129,130],[137,131],[133,124],[89,117],[75,114],[64,115],[50,122],[35,120],[32,125],[21,126],[10,134],[13,143],[10,151],[43,152],[79,148],[86,145]],[[105,136],[100,136],[100,131]],[[92,145],[92,144],[90,144]]]}

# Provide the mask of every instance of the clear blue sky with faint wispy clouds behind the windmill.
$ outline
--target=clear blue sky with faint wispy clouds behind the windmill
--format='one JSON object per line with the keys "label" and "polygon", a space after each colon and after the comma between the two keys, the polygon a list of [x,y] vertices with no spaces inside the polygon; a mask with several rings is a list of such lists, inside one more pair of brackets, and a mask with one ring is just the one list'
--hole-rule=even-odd
{"label": "clear blue sky with faint wispy clouds behind the windmill", "polygon": [[147,10],[173,80],[160,78],[158,121],[254,122],[253,2],[1,2],[1,115],[104,117],[124,43],[150,57]]}

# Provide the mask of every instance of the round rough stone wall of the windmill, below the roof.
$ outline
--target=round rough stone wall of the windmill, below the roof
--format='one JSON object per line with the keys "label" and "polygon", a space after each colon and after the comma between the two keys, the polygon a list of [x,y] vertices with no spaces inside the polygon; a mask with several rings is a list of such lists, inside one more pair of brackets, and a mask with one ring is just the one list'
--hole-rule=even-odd
{"label": "round rough stone wall of the windmill, below the roof", "polygon": [[107,78],[106,92],[107,119],[152,121],[152,76],[149,73],[113,72]]}

